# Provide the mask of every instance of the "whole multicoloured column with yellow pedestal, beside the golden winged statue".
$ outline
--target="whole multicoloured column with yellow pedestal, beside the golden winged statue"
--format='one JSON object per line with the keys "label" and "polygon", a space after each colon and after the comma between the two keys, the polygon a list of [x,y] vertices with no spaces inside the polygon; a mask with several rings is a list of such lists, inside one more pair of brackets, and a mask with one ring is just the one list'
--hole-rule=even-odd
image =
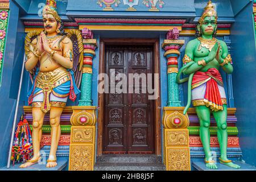
{"label": "whole multicoloured column with yellow pedestal, beside the golden winged statue", "polygon": [[96,106],[92,106],[92,65],[97,40],[87,28],[82,30],[84,38],[84,65],[82,68],[81,100],[72,106],[71,143],[69,146],[69,170],[93,171],[96,146]]}

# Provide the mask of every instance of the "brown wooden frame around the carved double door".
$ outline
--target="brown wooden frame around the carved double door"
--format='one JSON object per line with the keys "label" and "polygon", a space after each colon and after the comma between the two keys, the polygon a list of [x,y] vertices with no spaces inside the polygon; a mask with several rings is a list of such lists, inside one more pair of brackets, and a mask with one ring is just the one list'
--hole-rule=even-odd
{"label": "brown wooden frame around the carved double door", "polygon": [[[100,39],[100,58],[99,58],[99,74],[105,72],[105,45],[141,45],[154,46],[154,73],[159,74],[159,97],[154,101],[155,111],[155,155],[162,155],[162,137],[161,137],[161,85],[160,85],[160,55],[159,55],[159,39],[135,39],[135,38],[112,38]],[[99,80],[98,83],[101,81]],[[102,155],[103,149],[103,132],[104,132],[104,93],[98,93],[98,116],[97,116],[97,156]]]}

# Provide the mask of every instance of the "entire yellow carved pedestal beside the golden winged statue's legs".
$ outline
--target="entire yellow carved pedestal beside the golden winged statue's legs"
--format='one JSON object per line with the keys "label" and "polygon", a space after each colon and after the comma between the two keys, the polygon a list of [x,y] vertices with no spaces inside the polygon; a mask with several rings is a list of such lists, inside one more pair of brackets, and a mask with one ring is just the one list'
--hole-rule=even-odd
{"label": "entire yellow carved pedestal beside the golden winged statue's legs", "polygon": [[96,106],[73,106],[69,171],[93,171]]}

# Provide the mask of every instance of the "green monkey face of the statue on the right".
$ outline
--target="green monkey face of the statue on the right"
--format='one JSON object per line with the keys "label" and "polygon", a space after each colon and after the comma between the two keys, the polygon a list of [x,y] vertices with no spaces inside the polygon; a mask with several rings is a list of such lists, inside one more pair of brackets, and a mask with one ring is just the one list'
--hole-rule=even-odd
{"label": "green monkey face of the statue on the right", "polygon": [[217,28],[217,21],[214,16],[207,16],[201,24],[201,30],[204,35],[213,35]]}

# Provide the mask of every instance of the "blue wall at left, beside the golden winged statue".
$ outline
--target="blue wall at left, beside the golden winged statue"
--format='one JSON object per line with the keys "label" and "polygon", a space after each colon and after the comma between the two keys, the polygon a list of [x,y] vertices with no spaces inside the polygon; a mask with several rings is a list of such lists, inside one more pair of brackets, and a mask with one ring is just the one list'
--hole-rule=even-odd
{"label": "blue wall at left, beside the golden winged statue", "polygon": [[[19,19],[18,6],[10,1],[9,26],[6,38],[5,59],[3,60],[2,85],[0,87],[0,168],[7,164],[23,52],[23,22]],[[21,111],[22,109],[19,108],[18,115],[21,114]]]}

